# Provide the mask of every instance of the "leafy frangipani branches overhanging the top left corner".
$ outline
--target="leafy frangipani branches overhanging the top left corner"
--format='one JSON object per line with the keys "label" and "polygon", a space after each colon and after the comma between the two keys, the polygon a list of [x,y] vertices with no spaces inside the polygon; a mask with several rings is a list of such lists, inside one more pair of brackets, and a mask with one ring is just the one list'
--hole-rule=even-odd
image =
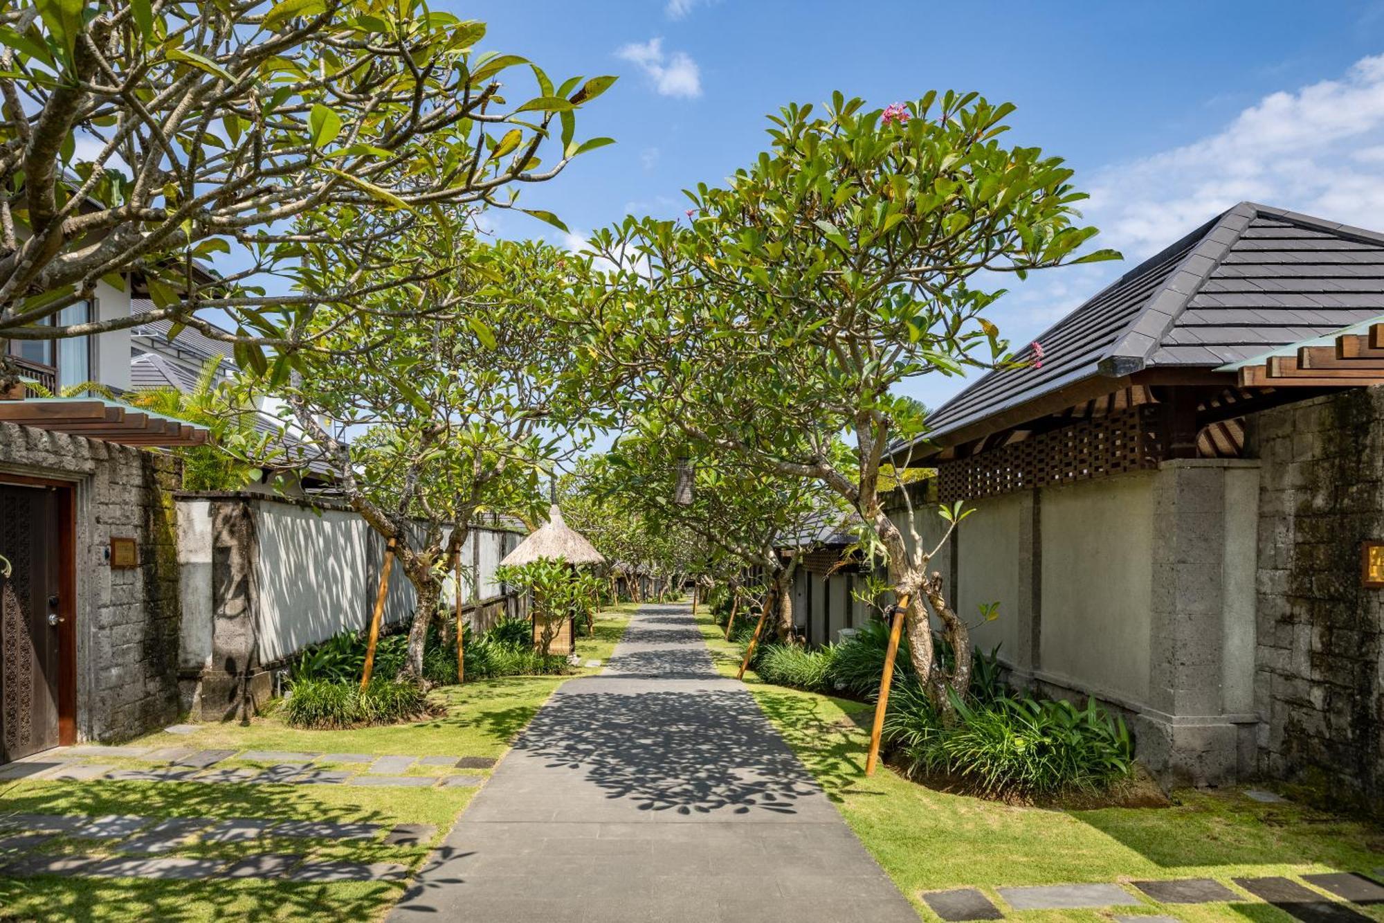
{"label": "leafy frangipani branches overhanging the top left corner", "polygon": [[[6,4],[0,338],[169,319],[260,364],[324,335],[318,308],[349,313],[436,272],[383,244],[437,205],[516,206],[515,188],[609,143],[577,140],[574,112],[614,78],[555,85],[482,51],[484,35],[424,0]],[[230,269],[206,272],[217,254]],[[352,272],[302,285],[304,258]],[[131,273],[151,309],[54,323]],[[267,291],[274,277],[288,291]]]}

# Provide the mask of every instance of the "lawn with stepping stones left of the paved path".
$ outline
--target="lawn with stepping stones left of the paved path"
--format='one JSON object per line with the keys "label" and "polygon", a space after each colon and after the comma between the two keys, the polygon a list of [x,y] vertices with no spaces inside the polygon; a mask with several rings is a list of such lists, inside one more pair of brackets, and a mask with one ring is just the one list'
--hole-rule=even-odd
{"label": "lawn with stepping stones left of the paved path", "polygon": [[[605,661],[630,621],[624,604],[597,617],[595,636],[577,639],[583,660]],[[206,725],[191,735],[156,732],[131,741],[227,750],[291,750],[410,755],[501,757],[515,735],[533,718],[567,676],[507,676],[464,686],[443,686],[433,700],[446,714],[406,725],[349,730],[299,730],[274,715],[245,725]],[[133,759],[101,759],[113,765],[148,765]],[[224,761],[219,766],[256,765]],[[433,775],[417,768],[410,775]],[[484,775],[486,771],[468,773]],[[353,786],[206,784],[177,782],[18,782],[0,784],[0,814],[125,814],[148,818],[270,818],[277,820],[428,823],[437,827],[418,847],[376,841],[259,838],[251,843],[191,843],[165,855],[235,859],[251,854],[285,852],[309,859],[397,862],[414,872],[441,841],[475,789],[365,789]],[[100,855],[116,844],[64,837],[43,844],[55,854]],[[169,920],[375,920],[403,894],[401,881],[289,883],[140,881],[133,879],[0,877],[0,920],[98,920],[143,923]]]}

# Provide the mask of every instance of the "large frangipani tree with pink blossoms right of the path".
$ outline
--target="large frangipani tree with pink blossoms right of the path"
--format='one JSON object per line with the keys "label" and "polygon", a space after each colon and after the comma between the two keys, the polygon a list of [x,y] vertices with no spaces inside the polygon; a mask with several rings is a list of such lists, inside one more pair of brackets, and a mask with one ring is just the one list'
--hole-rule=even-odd
{"label": "large frangipani tree with pink blossoms right of the path", "polygon": [[[1117,256],[1078,255],[1096,233],[1077,223],[1084,195],[1059,158],[1001,143],[1012,109],[951,91],[886,109],[837,93],[822,115],[789,105],[770,118],[770,151],[688,193],[685,222],[599,231],[590,248],[614,266],[608,297],[574,312],[585,362],[630,407],[859,513],[943,708],[948,686],[966,687],[970,643],[927,570],[936,547],[912,514],[900,525],[884,513],[886,452],[926,432],[897,389],[1009,360],[985,319],[1005,274]],[[951,671],[934,662],[929,607]]]}

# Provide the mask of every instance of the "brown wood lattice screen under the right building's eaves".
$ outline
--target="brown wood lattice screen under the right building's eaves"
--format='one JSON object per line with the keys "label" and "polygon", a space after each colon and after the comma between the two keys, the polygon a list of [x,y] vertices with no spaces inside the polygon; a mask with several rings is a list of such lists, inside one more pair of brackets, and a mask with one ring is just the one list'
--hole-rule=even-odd
{"label": "brown wood lattice screen under the right building's eaves", "polygon": [[1157,468],[1157,405],[1081,420],[969,459],[938,464],[943,503]]}

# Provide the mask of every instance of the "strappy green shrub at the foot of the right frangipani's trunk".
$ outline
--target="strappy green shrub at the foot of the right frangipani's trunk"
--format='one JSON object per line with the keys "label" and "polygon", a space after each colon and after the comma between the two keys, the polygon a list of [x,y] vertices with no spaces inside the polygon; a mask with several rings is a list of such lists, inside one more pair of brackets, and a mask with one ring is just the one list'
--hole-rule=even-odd
{"label": "strappy green shrub at the foot of the right frangipani's trunk", "polygon": [[988,795],[1055,795],[1102,791],[1133,768],[1124,721],[1095,698],[1085,708],[1027,696],[981,705],[954,696],[952,704],[954,725],[912,737],[902,733],[907,722],[922,726],[927,719],[895,719],[911,773],[955,775]]}

